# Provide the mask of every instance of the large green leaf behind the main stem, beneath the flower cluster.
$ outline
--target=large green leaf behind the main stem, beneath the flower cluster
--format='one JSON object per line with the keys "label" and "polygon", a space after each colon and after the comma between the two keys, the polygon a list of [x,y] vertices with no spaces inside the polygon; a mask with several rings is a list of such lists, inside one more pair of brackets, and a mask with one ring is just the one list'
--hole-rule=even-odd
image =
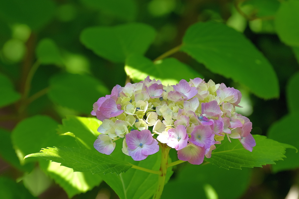
{"label": "large green leaf behind the main stem, beneath the flower cluster", "polygon": [[[110,156],[137,166],[158,171],[161,162],[161,152],[149,155],[145,160],[134,161],[132,157],[121,151],[122,140],[116,141],[116,148]],[[171,162],[170,160],[168,160]],[[172,168],[167,169],[166,182],[173,174]],[[137,169],[130,169],[126,173],[101,175],[102,179],[115,191],[120,199],[148,199],[156,190],[158,175]]]}

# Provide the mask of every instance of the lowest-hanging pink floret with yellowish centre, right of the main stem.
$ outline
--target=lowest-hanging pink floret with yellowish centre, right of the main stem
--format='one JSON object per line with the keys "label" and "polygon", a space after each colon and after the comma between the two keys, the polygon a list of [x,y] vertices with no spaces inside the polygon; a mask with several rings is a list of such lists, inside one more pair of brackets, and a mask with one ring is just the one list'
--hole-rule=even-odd
{"label": "lowest-hanging pink floret with yellowish centre, right of the main stem", "polygon": [[178,158],[191,164],[201,164],[205,158],[205,149],[188,143],[186,147],[178,151]]}

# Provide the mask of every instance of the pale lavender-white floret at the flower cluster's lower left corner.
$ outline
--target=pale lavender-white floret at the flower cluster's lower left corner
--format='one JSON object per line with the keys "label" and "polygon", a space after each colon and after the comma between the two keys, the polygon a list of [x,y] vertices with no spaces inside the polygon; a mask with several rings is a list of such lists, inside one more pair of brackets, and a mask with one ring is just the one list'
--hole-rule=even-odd
{"label": "pale lavender-white floret at the flower cluster's lower left corner", "polygon": [[94,148],[100,153],[110,155],[115,149],[115,142],[112,142],[108,135],[100,134],[94,141]]}

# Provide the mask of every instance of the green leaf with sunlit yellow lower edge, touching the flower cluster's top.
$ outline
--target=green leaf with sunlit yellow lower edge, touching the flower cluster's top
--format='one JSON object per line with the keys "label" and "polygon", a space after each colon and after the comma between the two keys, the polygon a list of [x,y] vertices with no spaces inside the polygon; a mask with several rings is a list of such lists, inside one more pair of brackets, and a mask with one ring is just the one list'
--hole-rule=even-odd
{"label": "green leaf with sunlit yellow lower edge, touching the flower cluster's top", "polygon": [[190,78],[203,78],[190,66],[175,58],[166,58],[153,63],[142,55],[133,55],[127,58],[125,71],[134,82],[143,81],[149,75],[151,79],[161,80],[164,85],[177,84],[181,79],[189,81]]}

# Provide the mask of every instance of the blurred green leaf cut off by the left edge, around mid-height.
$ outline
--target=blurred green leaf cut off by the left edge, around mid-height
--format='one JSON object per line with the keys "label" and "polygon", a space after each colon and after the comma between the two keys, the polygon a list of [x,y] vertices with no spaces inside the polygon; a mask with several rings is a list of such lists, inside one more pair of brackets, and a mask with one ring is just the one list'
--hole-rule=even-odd
{"label": "blurred green leaf cut off by the left edge, around mid-height", "polygon": [[13,84],[10,80],[0,73],[0,107],[7,106],[13,102],[18,101],[21,95],[14,90]]}

